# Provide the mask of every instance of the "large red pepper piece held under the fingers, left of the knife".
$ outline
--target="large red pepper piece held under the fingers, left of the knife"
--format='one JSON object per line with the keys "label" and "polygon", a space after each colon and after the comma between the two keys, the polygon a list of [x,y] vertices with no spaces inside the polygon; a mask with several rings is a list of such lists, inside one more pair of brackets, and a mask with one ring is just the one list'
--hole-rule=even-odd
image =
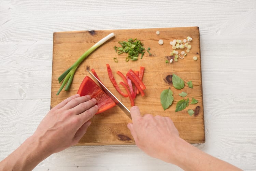
{"label": "large red pepper piece held under the fingers, left of the knife", "polygon": [[77,94],[80,94],[80,96],[90,95],[91,98],[97,100],[99,110],[96,114],[104,112],[116,105],[116,103],[88,76],[84,78]]}

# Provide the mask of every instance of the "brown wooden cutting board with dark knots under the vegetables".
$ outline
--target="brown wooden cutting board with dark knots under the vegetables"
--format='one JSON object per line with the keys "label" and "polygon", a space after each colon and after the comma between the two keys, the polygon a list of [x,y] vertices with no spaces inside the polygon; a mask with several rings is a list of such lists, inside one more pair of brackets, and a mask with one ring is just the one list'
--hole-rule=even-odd
{"label": "brown wooden cutting board with dark knots under the vegetables", "polygon": [[[160,31],[160,34],[157,35],[156,31]],[[111,32],[114,32],[115,37],[91,53],[76,70],[70,90],[62,90],[56,96],[61,85],[58,83],[58,77],[88,48]],[[174,39],[183,40],[187,36],[193,38],[190,42],[192,48],[187,56],[184,59],[179,59],[178,62],[165,63],[166,56],[170,56],[172,51],[170,41]],[[126,62],[125,59],[128,55],[125,53],[118,55],[113,47],[120,46],[118,41],[125,41],[129,38],[141,40],[145,48],[151,48],[152,55],[150,56],[146,52],[142,59]],[[163,40],[162,45],[158,44],[160,39]],[[181,49],[178,51],[181,52]],[[198,60],[194,61],[193,56],[197,56]],[[114,62],[113,58],[117,58],[118,63]],[[205,141],[199,27],[55,32],[53,35],[51,108],[69,96],[76,94],[84,77],[89,76],[86,68],[94,68],[105,86],[130,109],[129,98],[119,95],[112,85],[107,73],[106,63],[109,63],[117,83],[122,79],[116,74],[116,71],[126,74],[129,69],[139,70],[140,66],[144,66],[145,96],[138,95],[135,100],[141,114],[168,116],[173,120],[181,138],[189,143],[203,143]],[[185,87],[183,89],[177,90],[168,82],[170,81],[170,75],[173,73],[184,80]],[[187,86],[188,81],[193,82],[193,89]],[[125,92],[122,86],[119,87]],[[164,111],[160,103],[160,94],[162,90],[169,87],[173,91],[174,101],[170,108]],[[178,95],[182,91],[188,94],[185,98],[189,98],[190,102],[194,97],[198,100],[198,103],[189,104],[185,110],[175,112],[177,102],[183,99]],[[194,110],[195,114],[189,116],[188,109]],[[118,106],[95,115],[91,121],[92,124],[77,145],[135,144],[127,128],[127,124],[131,120]]]}

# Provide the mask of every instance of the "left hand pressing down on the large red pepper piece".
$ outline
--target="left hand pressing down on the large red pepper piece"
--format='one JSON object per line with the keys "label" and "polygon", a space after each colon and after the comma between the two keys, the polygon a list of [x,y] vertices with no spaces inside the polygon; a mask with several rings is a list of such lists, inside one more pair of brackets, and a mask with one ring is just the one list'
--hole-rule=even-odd
{"label": "left hand pressing down on the large red pepper piece", "polygon": [[51,155],[75,145],[91,124],[98,111],[96,99],[76,94],[56,105],[44,117],[33,134],[40,146]]}

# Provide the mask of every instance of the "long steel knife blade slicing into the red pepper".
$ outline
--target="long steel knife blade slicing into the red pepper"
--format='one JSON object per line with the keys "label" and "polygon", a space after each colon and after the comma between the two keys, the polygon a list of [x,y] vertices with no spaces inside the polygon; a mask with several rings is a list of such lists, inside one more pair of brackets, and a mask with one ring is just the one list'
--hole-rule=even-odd
{"label": "long steel knife blade slicing into the red pepper", "polygon": [[131,119],[131,113],[130,111],[126,108],[126,106],[120,102],[113,94],[110,90],[108,90],[108,88],[106,88],[95,76],[93,73],[91,73],[89,70],[87,70],[89,72],[89,74],[91,75],[91,77],[93,77],[94,81],[96,83],[98,83],[102,90],[119,106],[120,109],[122,109],[122,111],[124,111],[124,113]]}

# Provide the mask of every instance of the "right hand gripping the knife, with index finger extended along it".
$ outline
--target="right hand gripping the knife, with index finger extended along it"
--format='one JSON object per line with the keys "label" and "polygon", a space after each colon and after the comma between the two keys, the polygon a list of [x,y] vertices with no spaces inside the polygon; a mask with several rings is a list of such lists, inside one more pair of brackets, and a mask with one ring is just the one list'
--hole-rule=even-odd
{"label": "right hand gripping the knife, with index finger extended along it", "polygon": [[145,114],[141,116],[138,106],[130,109],[130,129],[136,145],[146,154],[166,162],[176,163],[177,147],[183,140],[169,117]]}

